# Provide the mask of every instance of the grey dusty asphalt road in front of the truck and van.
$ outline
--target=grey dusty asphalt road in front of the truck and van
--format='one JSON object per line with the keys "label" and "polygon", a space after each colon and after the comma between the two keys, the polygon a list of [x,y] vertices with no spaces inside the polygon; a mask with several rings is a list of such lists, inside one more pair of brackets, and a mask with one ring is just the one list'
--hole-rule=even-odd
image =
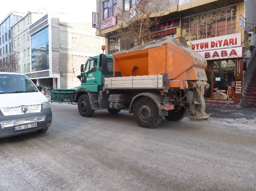
{"label": "grey dusty asphalt road in front of the truck and van", "polygon": [[0,139],[0,190],[256,190],[256,127],[218,118],[139,127],[126,111],[52,104],[45,134]]}

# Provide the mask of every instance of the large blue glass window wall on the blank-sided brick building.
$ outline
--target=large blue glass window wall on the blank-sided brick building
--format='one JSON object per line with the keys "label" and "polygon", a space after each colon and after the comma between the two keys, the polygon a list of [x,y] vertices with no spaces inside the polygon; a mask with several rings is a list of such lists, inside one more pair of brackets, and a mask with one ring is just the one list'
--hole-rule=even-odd
{"label": "large blue glass window wall on the blank-sided brick building", "polygon": [[31,36],[32,72],[49,69],[48,27]]}

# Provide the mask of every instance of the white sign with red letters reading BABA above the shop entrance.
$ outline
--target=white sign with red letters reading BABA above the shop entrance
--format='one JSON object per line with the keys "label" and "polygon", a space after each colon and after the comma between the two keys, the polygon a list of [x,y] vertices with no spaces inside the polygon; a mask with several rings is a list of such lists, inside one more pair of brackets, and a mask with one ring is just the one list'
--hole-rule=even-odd
{"label": "white sign with red letters reading BABA above the shop entrance", "polygon": [[203,56],[206,60],[241,58],[243,57],[243,47],[201,51],[198,52],[198,54]]}

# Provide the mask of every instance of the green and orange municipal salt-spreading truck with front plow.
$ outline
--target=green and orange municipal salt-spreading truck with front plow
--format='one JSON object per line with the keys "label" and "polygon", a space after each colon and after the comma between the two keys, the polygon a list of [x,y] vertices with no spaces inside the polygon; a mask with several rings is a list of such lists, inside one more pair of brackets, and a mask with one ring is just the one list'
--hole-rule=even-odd
{"label": "green and orange municipal salt-spreading truck with front plow", "polygon": [[207,62],[182,42],[183,37],[164,38],[114,55],[90,57],[77,76],[81,85],[56,89],[52,99],[63,100],[64,94],[84,117],[102,109],[112,114],[129,110],[146,128],[158,126],[163,117],[179,121],[186,111],[189,118],[207,119]]}

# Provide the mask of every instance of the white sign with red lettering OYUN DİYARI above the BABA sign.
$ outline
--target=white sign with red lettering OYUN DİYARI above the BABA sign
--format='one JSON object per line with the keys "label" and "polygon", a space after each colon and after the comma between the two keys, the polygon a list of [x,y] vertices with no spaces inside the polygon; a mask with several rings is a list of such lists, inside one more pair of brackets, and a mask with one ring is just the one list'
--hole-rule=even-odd
{"label": "white sign with red lettering OYUN D\u0130YARI above the BABA sign", "polygon": [[188,41],[187,43],[188,47],[196,52],[220,48],[237,47],[241,46],[241,33]]}

